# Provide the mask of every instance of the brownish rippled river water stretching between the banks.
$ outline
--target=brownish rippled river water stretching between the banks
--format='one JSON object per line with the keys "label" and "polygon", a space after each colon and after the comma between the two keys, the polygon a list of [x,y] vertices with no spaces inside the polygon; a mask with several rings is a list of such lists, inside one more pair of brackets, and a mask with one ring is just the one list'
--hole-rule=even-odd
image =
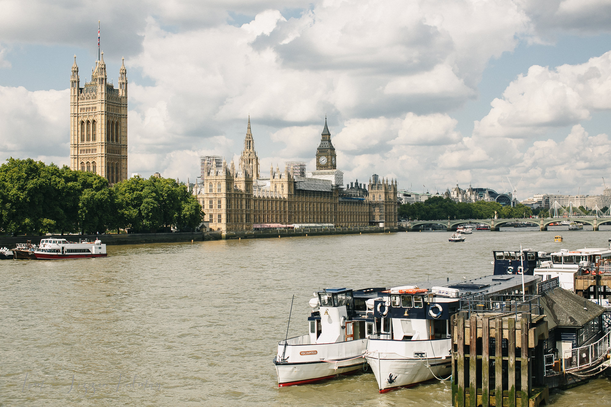
{"label": "brownish rippled river water stretching between the banks", "polygon": [[[1,406],[449,406],[450,384],[378,394],[370,372],[279,389],[272,359],[324,287],[492,273],[492,249],[607,247],[611,227],[108,246],[105,259],[0,262]],[[554,243],[558,232],[563,243]],[[27,375],[27,376],[26,376]],[[598,378],[551,405],[611,405]]]}

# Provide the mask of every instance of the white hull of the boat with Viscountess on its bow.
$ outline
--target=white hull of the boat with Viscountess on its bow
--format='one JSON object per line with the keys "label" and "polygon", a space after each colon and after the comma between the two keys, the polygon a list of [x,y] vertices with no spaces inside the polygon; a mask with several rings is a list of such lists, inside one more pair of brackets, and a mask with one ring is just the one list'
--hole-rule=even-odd
{"label": "white hull of the boat with Viscountess on its bow", "polygon": [[[274,358],[278,387],[315,383],[364,367],[367,339],[310,344],[308,335],[278,345]],[[291,344],[293,343],[293,344]]]}

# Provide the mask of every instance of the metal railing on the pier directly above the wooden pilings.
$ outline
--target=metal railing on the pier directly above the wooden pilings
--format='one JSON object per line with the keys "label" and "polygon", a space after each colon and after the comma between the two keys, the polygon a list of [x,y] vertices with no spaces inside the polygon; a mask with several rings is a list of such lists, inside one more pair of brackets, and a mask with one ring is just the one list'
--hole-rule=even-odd
{"label": "metal railing on the pier directly above the wooden pilings", "polygon": [[459,300],[458,311],[481,314],[485,312],[513,313],[518,318],[522,312],[541,314],[540,295],[508,294],[486,298],[486,295],[474,295]]}

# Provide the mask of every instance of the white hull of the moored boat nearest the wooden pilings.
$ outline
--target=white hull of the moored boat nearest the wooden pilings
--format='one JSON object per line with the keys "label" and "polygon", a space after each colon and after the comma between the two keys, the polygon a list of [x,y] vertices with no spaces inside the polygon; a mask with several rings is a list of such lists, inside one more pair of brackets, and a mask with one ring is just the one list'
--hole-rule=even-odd
{"label": "white hull of the moored boat nearest the wooden pilings", "polygon": [[[447,378],[452,373],[452,358],[448,352],[452,345],[450,341],[370,340],[366,358],[376,376],[379,392],[386,393],[435,378]],[[411,356],[414,354],[428,356]]]}

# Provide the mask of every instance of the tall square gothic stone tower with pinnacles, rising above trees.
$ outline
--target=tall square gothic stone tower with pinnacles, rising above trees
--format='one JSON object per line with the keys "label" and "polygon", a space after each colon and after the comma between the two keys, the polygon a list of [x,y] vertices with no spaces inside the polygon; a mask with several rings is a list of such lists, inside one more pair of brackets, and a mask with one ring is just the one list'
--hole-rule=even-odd
{"label": "tall square gothic stone tower with pinnacles, rising above trees", "polygon": [[107,82],[104,53],[91,81],[81,87],[78,66],[70,76],[70,167],[95,172],[112,185],[127,179],[127,71],[118,89]]}

